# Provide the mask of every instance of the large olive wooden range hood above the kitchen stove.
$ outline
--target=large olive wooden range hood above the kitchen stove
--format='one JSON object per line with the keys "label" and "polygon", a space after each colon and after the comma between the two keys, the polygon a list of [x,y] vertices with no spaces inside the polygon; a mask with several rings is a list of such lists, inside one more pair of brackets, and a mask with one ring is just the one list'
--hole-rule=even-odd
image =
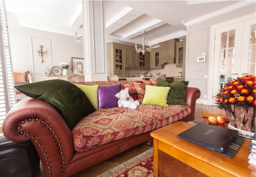
{"label": "large olive wooden range hood above the kitchen stove", "polygon": [[160,42],[160,64],[164,63],[175,63],[176,57],[176,42],[180,41],[179,39],[172,39],[169,41]]}

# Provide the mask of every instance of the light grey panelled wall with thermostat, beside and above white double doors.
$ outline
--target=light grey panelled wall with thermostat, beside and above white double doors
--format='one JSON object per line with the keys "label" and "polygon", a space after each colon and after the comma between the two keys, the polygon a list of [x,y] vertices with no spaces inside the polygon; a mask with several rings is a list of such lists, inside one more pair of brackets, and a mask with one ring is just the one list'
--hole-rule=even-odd
{"label": "light grey panelled wall with thermostat, beside and above white double doors", "polygon": [[[212,75],[212,73],[209,73],[209,67],[213,66],[210,66],[208,62],[211,26],[252,13],[255,13],[255,3],[204,20],[187,28],[185,80],[189,81],[189,87],[200,89],[201,97],[197,103],[210,104],[208,98],[204,98],[204,95],[208,97],[208,90],[209,87],[212,87],[212,83],[208,84],[209,77],[205,78],[204,76]],[[203,52],[206,52],[206,62],[197,63],[197,56],[202,56]]]}

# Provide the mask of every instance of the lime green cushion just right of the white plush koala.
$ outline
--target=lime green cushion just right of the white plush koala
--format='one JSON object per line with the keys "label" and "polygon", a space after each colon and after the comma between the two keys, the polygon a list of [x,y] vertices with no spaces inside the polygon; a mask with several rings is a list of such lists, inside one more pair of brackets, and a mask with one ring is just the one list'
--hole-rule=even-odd
{"label": "lime green cushion just right of the white plush koala", "polygon": [[142,104],[149,105],[159,105],[168,107],[167,96],[170,87],[156,87],[151,85],[146,85],[145,96],[143,98]]}

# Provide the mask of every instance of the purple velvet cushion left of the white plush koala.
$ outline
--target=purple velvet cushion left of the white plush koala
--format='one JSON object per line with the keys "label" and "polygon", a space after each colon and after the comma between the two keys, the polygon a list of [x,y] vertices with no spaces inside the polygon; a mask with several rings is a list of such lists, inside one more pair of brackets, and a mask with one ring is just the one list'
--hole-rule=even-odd
{"label": "purple velvet cushion left of the white plush koala", "polygon": [[118,107],[116,93],[121,91],[121,84],[99,86],[98,99],[99,109]]}

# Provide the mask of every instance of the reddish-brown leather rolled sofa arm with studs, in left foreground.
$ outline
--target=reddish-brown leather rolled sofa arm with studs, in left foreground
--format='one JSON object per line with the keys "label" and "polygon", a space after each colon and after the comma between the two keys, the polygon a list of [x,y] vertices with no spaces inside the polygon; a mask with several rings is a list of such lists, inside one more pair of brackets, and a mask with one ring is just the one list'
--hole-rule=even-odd
{"label": "reddish-brown leather rolled sofa arm with studs, in left foreground", "polygon": [[3,133],[11,141],[30,140],[46,176],[65,175],[65,163],[75,154],[68,125],[56,109],[43,100],[27,97],[17,103],[4,119]]}

